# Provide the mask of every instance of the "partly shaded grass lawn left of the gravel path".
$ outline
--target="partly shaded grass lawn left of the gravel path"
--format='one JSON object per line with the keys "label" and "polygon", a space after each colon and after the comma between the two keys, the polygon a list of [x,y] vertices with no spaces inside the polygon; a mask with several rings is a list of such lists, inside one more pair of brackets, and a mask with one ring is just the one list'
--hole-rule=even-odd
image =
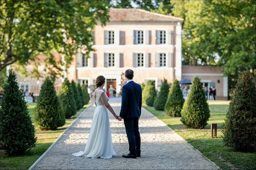
{"label": "partly shaded grass lawn left of the gravel path", "polygon": [[[84,105],[77,113],[70,119],[66,119],[66,124],[57,130],[41,131],[36,129],[37,144],[29,152],[23,156],[6,157],[4,151],[1,150],[1,169],[28,169],[31,165],[51,146],[51,144],[62,134],[67,127],[79,116],[82,111],[90,105]],[[33,120],[33,111],[36,103],[28,103],[29,114]]]}

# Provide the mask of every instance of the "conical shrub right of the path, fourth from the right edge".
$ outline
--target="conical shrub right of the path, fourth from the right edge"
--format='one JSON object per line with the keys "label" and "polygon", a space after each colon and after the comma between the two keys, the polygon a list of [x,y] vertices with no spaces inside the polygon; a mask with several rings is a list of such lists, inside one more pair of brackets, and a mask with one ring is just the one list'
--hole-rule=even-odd
{"label": "conical shrub right of the path, fourth from the right edge", "polygon": [[165,103],[167,100],[167,96],[169,93],[169,86],[166,81],[166,79],[163,81],[163,84],[161,85],[160,91],[157,94],[157,97],[154,101],[154,108],[159,111],[163,111],[165,108]]}

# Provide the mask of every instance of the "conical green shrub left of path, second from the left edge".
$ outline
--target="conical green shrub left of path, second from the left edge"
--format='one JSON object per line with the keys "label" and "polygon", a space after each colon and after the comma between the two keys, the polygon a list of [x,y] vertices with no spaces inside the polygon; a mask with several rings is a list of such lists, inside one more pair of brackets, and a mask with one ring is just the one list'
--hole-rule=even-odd
{"label": "conical green shrub left of path, second from the left edge", "polygon": [[54,82],[46,77],[34,110],[35,125],[41,130],[55,130],[65,125],[65,114],[56,95]]}

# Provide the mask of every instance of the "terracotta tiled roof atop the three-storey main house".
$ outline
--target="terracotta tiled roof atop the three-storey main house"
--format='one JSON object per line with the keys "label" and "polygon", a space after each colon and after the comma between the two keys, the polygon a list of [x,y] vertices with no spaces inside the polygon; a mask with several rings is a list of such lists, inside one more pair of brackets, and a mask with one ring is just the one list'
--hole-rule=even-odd
{"label": "terracotta tiled roof atop the three-storey main house", "polygon": [[146,10],[135,8],[110,8],[110,21],[130,21],[130,22],[183,22],[183,18],[170,15],[157,14]]}

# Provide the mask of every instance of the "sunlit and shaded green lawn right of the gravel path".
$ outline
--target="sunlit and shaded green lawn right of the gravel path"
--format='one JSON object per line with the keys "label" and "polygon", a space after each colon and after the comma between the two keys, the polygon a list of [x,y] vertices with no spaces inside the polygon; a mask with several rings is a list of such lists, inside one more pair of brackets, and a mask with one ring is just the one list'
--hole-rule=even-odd
{"label": "sunlit and shaded green lawn right of the gravel path", "polygon": [[[211,116],[208,125],[204,129],[190,129],[180,121],[180,117],[168,117],[163,111],[157,111],[153,107],[143,105],[147,111],[154,114],[176,133],[189,142],[194,148],[198,149],[215,162],[222,169],[256,169],[255,152],[244,153],[234,152],[232,148],[222,144],[221,128],[226,117],[226,110],[229,101],[208,101]],[[210,124],[217,123],[217,138],[211,139]]]}

